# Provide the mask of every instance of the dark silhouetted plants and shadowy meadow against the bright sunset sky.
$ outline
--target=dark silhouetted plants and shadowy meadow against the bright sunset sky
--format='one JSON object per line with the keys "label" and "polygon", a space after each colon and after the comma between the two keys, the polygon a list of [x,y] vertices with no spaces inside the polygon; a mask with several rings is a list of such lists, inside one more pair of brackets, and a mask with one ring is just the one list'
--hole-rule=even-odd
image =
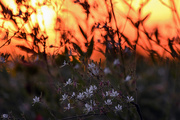
{"label": "dark silhouetted plants and shadowy meadow against the bright sunset sky", "polygon": [[[132,8],[132,1],[130,4],[123,1],[129,7],[129,11],[135,11]],[[164,116],[166,119],[179,118],[179,115],[176,114],[179,108],[174,108],[176,104],[179,104],[180,50],[175,48],[175,41],[178,41],[179,38],[168,38],[168,45],[163,46],[159,28],[156,28],[152,33],[146,30],[145,22],[151,13],[142,17],[142,10],[149,0],[141,4],[137,20],[129,15],[125,16],[126,21],[136,29],[137,36],[133,41],[125,35],[124,29],[120,31],[115,14],[115,3],[112,0],[103,1],[107,8],[107,19],[103,22],[94,22],[92,27],[88,24],[91,17],[95,19],[91,9],[97,9],[99,6],[93,7],[88,0],[75,0],[74,4],[81,6],[86,14],[84,21],[86,30],[90,29],[90,33],[88,33],[83,30],[80,24],[77,25],[80,34],[85,39],[85,42],[82,42],[85,51],[79,44],[81,40],[75,37],[76,33],[63,30],[61,25],[58,25],[60,28],[57,26],[55,28],[56,32],[63,31],[58,39],[59,46],[47,45],[49,37],[45,31],[40,29],[39,25],[33,26],[31,33],[26,32],[23,26],[31,22],[30,16],[33,13],[37,13],[36,9],[26,5],[26,2],[26,0],[16,0],[18,5],[31,9],[31,12],[19,10],[17,15],[5,7],[3,2],[0,2],[4,19],[13,21],[18,27],[18,30],[1,45],[0,49],[11,44],[12,38],[19,38],[26,42],[28,42],[29,37],[32,39],[32,44],[29,46],[16,45],[17,48],[31,53],[30,57],[17,56],[17,59],[12,58],[11,60],[8,59],[10,56],[8,53],[1,53],[0,82],[2,84],[0,84],[0,91],[2,92],[0,95],[3,96],[1,99],[3,102],[0,102],[0,105],[5,103],[6,106],[0,108],[0,113],[8,113],[12,110],[8,113],[8,119],[36,119],[38,116],[55,120],[96,118],[122,120],[142,120],[144,118],[148,120],[164,119]],[[52,4],[52,2],[54,1],[45,0],[38,6]],[[160,2],[167,6],[161,0]],[[167,7],[178,18],[174,0],[170,0],[170,2],[172,6]],[[57,3],[54,4],[57,5]],[[54,7],[54,9],[56,8]],[[18,26],[18,21],[15,18],[23,20],[21,27]],[[57,18],[57,22],[61,23],[61,19]],[[96,40],[96,31],[100,32],[101,40],[99,41]],[[9,31],[6,30],[6,32],[9,35]],[[142,34],[146,36],[150,47],[140,44]],[[96,46],[98,43],[103,45],[105,50],[98,48]],[[153,43],[168,52],[174,61],[164,59],[158,51],[153,49]],[[57,52],[48,54],[48,47],[57,48]],[[151,60],[138,55],[137,47],[146,51]],[[61,48],[63,50],[60,52]],[[104,55],[104,60],[94,62],[91,59],[96,50]],[[93,85],[96,85],[97,88],[94,88]],[[72,96],[72,92],[76,94],[76,97]],[[80,93],[84,94],[85,97],[80,99],[82,97]],[[77,97],[78,94],[81,97]],[[34,96],[40,100],[33,101],[34,106],[32,107]],[[129,96],[134,96],[134,98],[129,99]],[[172,96],[173,98],[171,98]],[[110,102],[107,104],[108,100]],[[116,105],[122,105],[122,110],[121,107],[117,109]],[[162,109],[165,105],[167,107]],[[19,116],[19,113],[22,112],[24,114]],[[149,116],[149,113],[152,115]],[[6,119],[3,115],[2,118]]]}

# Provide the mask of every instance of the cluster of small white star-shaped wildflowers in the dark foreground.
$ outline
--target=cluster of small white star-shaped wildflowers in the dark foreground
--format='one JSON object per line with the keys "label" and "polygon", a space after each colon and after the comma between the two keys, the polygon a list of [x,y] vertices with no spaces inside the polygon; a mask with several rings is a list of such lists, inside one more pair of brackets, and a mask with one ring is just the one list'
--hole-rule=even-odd
{"label": "cluster of small white star-shaped wildflowers in the dark foreground", "polygon": [[[113,65],[115,66],[119,64],[119,59],[115,59]],[[65,65],[67,65],[66,62],[64,62],[63,66]],[[80,70],[76,68],[74,69]],[[90,74],[86,75],[98,76],[90,77],[91,84],[88,84],[87,82],[87,85],[81,85],[80,82],[76,82],[76,79],[71,78],[63,84],[60,84],[60,101],[61,104],[63,104],[65,111],[73,108],[80,108],[85,114],[89,114],[90,112],[101,112],[101,110],[104,112],[113,111],[117,113],[122,111],[124,104],[129,104],[134,101],[132,96],[123,97],[121,93],[122,91],[119,87],[118,90],[115,90],[110,80],[103,80],[101,78],[100,81],[92,81],[94,79],[99,80],[99,77],[103,75],[100,74],[100,67],[98,67],[94,62],[88,64],[87,69],[89,70],[87,73]],[[105,67],[102,72],[104,72],[104,74],[112,74],[110,68],[108,67]],[[124,81],[126,82],[129,80],[131,80],[131,76],[127,75]],[[38,102],[40,102],[40,98],[35,96],[35,98],[33,98],[33,103],[35,104]]]}

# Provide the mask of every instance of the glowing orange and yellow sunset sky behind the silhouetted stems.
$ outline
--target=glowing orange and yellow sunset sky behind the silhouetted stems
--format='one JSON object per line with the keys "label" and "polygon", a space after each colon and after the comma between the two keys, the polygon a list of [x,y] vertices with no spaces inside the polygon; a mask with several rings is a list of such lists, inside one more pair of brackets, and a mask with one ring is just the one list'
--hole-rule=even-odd
{"label": "glowing orange and yellow sunset sky behind the silhouetted stems", "polygon": [[[22,12],[27,10],[23,6],[18,6],[14,0],[2,0],[5,5],[8,6],[8,8],[13,10],[14,14],[18,14],[18,9],[21,9]],[[84,39],[82,38],[82,35],[79,32],[77,23],[82,26],[82,28],[88,32],[88,29],[94,24],[94,22],[105,22],[107,17],[107,10],[103,0],[89,0],[89,3],[93,5],[99,5],[99,8],[94,10],[92,7],[90,11],[94,15],[94,19],[91,19],[89,21],[89,25],[86,25],[86,15],[84,14],[83,8],[78,5],[74,4],[74,0],[51,0],[52,2],[47,6],[38,6],[38,4],[43,3],[44,0],[30,0],[28,4],[31,4],[33,8],[37,10],[37,14],[31,15],[31,22],[25,25],[25,31],[28,33],[31,33],[31,28],[39,24],[42,31],[46,31],[47,35],[49,36],[48,44],[51,45],[58,45],[59,42],[57,42],[59,39],[58,36],[60,36],[61,32],[57,33],[55,32],[54,28],[56,26],[56,18],[57,16],[60,16],[60,18],[63,20],[63,23],[61,26],[63,26],[66,30],[71,30],[74,33],[74,36],[81,40],[81,46],[83,46]],[[83,1],[83,0],[80,0]],[[96,3],[95,3],[96,1]],[[131,0],[126,0],[127,3],[131,4]],[[118,21],[118,27],[121,32],[123,32],[126,36],[128,36],[132,41],[136,37],[136,30],[132,26],[132,24],[128,21],[126,23],[126,16],[128,15],[130,18],[132,18],[134,21],[138,20],[138,9],[140,7],[141,3],[144,3],[146,0],[132,0],[132,6],[133,10],[131,9],[129,14],[129,7],[123,2],[123,0],[113,0],[114,4],[114,10],[116,19]],[[162,0],[167,5],[170,5],[170,0]],[[58,2],[56,4],[56,2]],[[176,7],[177,10],[180,10],[180,6],[178,6],[179,1],[176,0]],[[62,6],[61,6],[62,5]],[[110,4],[109,4],[110,6]],[[68,11],[68,12],[67,12]],[[173,22],[172,12],[169,8],[162,5],[159,0],[150,0],[148,4],[143,8],[141,17],[143,18],[147,14],[151,13],[150,17],[145,22],[146,30],[148,32],[154,31],[156,27],[159,28],[161,36],[163,38],[167,37],[173,37],[177,35],[176,27],[179,28],[178,25],[175,25]],[[0,15],[0,18],[2,18],[2,15]],[[6,29],[9,29],[10,36],[14,34],[15,31],[18,30],[18,27],[21,26],[21,21],[19,22],[19,26],[13,24],[12,21],[8,20],[2,20],[0,19],[0,26],[2,23],[4,23]],[[44,24],[44,25],[43,25]],[[114,26],[112,24],[112,26]],[[122,31],[124,29],[124,31]],[[2,30],[3,31],[3,30]],[[98,32],[95,33],[96,37],[95,39],[98,39]],[[3,32],[2,32],[3,33]],[[10,38],[9,36],[9,38]],[[1,37],[0,37],[1,39]],[[141,38],[139,44],[145,45],[147,44],[147,41],[145,38]],[[0,42],[0,45],[3,44],[4,40]],[[167,41],[163,41],[164,44],[167,44]],[[29,44],[31,43],[31,40],[29,40]],[[98,43],[95,40],[96,45],[98,46]],[[12,43],[9,46],[0,48],[0,52],[16,52],[19,53],[19,49],[14,48],[13,46],[17,44],[27,44],[25,41],[19,41],[18,39],[12,39]],[[162,50],[157,45],[153,46],[155,50]],[[52,49],[51,49],[52,50]],[[53,50],[52,50],[53,51]],[[94,54],[94,56],[97,56],[98,53]],[[99,56],[99,55],[98,55]]]}

